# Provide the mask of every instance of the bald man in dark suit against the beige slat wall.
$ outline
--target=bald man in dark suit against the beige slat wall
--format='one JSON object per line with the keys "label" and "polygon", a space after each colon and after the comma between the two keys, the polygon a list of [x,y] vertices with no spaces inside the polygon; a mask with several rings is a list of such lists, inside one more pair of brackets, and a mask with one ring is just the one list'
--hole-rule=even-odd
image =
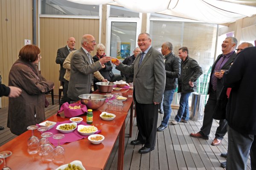
{"label": "bald man in dark suit against the beige slat wall", "polygon": [[67,58],[67,55],[69,55],[70,52],[75,50],[76,40],[74,37],[69,37],[67,40],[67,46],[64,46],[60,49],[58,49],[57,57],[56,57],[56,63],[60,64],[60,75],[59,75],[59,81],[61,81],[62,87],[63,87],[63,96],[61,98],[60,107],[62,104],[67,102],[67,89],[68,89],[68,81],[64,78],[64,75],[66,73],[66,69],[63,68],[63,63],[65,59]]}

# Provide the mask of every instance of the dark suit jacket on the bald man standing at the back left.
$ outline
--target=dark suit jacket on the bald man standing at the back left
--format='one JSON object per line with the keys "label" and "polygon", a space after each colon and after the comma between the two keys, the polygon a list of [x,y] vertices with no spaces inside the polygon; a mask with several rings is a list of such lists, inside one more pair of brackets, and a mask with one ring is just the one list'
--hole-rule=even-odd
{"label": "dark suit jacket on the bald man standing at the back left", "polygon": [[69,50],[67,49],[67,46],[62,47],[60,49],[58,49],[57,51],[57,57],[55,62],[57,64],[61,65],[61,69],[60,69],[60,76],[59,76],[59,81],[64,81],[64,75],[66,73],[66,69],[63,68],[63,63],[65,61],[65,59],[67,58],[67,55],[69,54]]}

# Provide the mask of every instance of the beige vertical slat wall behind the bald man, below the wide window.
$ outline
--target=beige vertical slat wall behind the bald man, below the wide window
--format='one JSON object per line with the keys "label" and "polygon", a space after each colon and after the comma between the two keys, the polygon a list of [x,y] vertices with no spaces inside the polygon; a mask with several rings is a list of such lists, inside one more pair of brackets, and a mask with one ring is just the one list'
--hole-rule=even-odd
{"label": "beige vertical slat wall behind the bald man, below the wide window", "polygon": [[[79,18],[49,18],[40,17],[40,49],[42,59],[40,61],[41,74],[55,84],[54,93],[58,95],[60,86],[60,65],[55,63],[57,50],[67,45],[67,39],[76,39],[76,49],[81,47],[81,37],[90,34],[99,42],[99,19]],[[95,46],[96,48],[96,46]],[[96,55],[96,49],[91,52]]]}

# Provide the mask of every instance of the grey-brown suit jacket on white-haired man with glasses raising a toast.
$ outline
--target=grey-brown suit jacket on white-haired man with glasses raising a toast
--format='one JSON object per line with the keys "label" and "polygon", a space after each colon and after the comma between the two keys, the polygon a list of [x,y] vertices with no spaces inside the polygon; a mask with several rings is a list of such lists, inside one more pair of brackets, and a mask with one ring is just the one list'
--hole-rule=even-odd
{"label": "grey-brown suit jacket on white-haired man with glasses raising a toast", "polygon": [[70,82],[68,85],[67,96],[75,101],[79,101],[79,95],[89,94],[93,84],[93,72],[102,69],[99,61],[93,62],[82,47],[77,50],[70,60]]}

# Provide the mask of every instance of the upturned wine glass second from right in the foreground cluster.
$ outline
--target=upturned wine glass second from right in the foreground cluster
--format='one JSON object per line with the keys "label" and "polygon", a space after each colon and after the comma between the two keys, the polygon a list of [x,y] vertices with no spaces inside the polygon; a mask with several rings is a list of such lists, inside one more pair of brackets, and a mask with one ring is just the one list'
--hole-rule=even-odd
{"label": "upturned wine glass second from right in the foreground cluster", "polygon": [[53,135],[53,133],[51,133],[51,132],[45,132],[45,133],[41,134],[41,136],[43,138],[46,138],[46,143],[41,147],[41,155],[42,155],[41,159],[45,163],[52,161],[53,147],[48,142],[48,138],[51,137],[52,135]]}

